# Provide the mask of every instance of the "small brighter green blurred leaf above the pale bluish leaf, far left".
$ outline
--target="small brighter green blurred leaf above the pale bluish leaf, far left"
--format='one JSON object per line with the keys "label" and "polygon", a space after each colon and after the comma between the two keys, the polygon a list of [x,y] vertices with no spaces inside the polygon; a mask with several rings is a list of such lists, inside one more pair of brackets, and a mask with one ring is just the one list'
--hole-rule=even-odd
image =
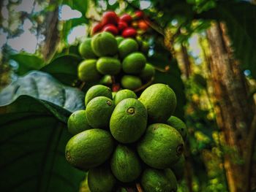
{"label": "small brighter green blurred leaf above the pale bluish leaf, far left", "polygon": [[18,63],[18,75],[26,74],[31,70],[38,70],[44,66],[44,61],[42,58],[36,55],[29,55],[27,53],[18,53],[15,55],[10,55],[10,59]]}

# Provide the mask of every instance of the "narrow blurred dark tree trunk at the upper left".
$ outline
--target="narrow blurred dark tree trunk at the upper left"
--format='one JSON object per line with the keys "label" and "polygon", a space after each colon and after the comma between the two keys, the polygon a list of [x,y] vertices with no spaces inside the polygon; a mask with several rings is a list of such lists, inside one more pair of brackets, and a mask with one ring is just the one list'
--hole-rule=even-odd
{"label": "narrow blurred dark tree trunk at the upper left", "polygon": [[50,0],[49,4],[55,4],[55,9],[48,12],[45,18],[45,43],[42,47],[42,55],[47,61],[55,53],[56,45],[59,42],[59,6],[56,0]]}

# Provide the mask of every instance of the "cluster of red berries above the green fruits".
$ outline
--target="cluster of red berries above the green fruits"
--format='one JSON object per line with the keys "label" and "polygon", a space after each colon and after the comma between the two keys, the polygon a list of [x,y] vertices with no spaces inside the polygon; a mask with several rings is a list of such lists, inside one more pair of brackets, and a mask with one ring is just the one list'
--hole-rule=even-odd
{"label": "cluster of red berries above the green fruits", "polygon": [[91,34],[108,31],[115,36],[134,38],[138,34],[138,29],[146,31],[147,28],[142,11],[136,11],[132,16],[125,13],[120,17],[116,15],[116,12],[108,11],[102,15],[102,21],[92,28]]}

